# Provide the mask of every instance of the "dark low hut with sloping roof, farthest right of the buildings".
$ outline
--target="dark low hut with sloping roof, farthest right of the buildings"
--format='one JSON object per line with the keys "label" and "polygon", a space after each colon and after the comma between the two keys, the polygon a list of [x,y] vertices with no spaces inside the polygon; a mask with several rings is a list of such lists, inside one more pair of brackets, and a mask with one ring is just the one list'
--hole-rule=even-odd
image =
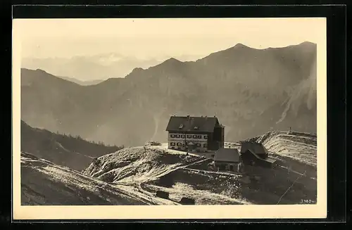
{"label": "dark low hut with sloping roof, farthest right of the buildings", "polygon": [[245,141],[241,143],[241,160],[244,165],[273,167],[276,160],[268,157],[268,150],[262,143]]}

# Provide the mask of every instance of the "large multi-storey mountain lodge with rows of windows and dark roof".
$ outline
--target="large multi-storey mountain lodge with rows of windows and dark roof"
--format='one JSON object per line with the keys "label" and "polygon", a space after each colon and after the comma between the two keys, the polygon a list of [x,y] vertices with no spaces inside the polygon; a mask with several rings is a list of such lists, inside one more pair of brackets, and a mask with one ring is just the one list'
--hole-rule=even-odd
{"label": "large multi-storey mountain lodge with rows of windows and dark roof", "polygon": [[224,147],[224,126],[217,117],[172,116],[166,127],[168,148],[196,153],[213,153]]}

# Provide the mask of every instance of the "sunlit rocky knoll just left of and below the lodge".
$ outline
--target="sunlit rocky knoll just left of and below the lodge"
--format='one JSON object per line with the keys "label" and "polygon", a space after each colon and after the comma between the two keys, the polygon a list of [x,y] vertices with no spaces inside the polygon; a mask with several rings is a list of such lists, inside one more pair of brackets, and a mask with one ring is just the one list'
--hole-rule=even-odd
{"label": "sunlit rocky knoll just left of and below the lodge", "polygon": [[[173,154],[172,154],[173,153]],[[149,181],[178,167],[205,160],[179,151],[143,147],[124,148],[97,158],[83,173],[103,181]]]}

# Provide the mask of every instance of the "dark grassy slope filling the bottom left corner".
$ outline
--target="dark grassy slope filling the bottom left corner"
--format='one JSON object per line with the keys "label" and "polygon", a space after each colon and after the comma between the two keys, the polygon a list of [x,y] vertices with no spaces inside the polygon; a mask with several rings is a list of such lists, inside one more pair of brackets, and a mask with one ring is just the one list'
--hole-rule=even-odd
{"label": "dark grassy slope filling the bottom left corner", "polygon": [[21,153],[22,205],[145,205],[75,170]]}

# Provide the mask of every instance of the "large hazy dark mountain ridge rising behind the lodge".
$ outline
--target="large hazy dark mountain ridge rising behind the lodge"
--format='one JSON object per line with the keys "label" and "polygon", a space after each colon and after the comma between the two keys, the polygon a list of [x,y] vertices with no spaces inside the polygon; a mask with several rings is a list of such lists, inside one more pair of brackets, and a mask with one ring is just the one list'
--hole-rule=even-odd
{"label": "large hazy dark mountain ridge rising behind the lodge", "polygon": [[[310,42],[269,49],[237,44],[88,86],[23,68],[21,117],[33,127],[125,146],[165,141],[173,114],[216,115],[227,141],[289,127],[315,133],[316,52]],[[93,76],[89,68],[77,65]]]}

